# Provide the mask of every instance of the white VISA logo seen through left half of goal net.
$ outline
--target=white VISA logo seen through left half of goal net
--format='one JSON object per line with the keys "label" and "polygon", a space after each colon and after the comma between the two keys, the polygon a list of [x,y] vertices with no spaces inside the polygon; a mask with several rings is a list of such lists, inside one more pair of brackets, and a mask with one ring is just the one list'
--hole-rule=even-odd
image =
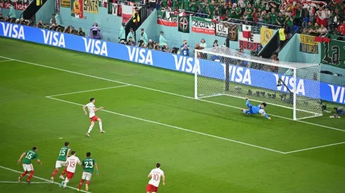
{"label": "white VISA logo seen through left half of goal net", "polygon": [[[222,64],[222,66],[224,75],[226,75],[226,65]],[[229,79],[230,81],[251,85],[251,71],[243,67],[229,65]]]}

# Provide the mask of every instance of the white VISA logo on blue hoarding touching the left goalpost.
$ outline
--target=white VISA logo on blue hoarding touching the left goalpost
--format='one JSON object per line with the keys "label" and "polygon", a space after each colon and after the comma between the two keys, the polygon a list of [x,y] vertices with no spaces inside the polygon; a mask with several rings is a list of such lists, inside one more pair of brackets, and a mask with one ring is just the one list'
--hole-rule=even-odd
{"label": "white VISA logo on blue hoarding touching the left goalpost", "polygon": [[[181,72],[200,74],[199,61],[194,62],[194,58],[182,56],[182,55],[172,55],[175,59],[176,70]],[[194,63],[194,65],[193,65]]]}

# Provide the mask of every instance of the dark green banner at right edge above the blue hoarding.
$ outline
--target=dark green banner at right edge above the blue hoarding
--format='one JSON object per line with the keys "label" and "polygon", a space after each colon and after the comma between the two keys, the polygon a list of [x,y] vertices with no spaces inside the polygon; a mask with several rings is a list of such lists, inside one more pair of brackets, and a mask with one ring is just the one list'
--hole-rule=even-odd
{"label": "dark green banner at right edge above the blue hoarding", "polygon": [[321,63],[345,69],[345,41],[332,39],[321,44]]}

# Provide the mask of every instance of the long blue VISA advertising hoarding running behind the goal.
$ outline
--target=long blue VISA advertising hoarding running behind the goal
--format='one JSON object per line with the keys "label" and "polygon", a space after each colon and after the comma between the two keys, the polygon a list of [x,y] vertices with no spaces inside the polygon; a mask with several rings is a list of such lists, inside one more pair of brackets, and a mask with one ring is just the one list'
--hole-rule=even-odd
{"label": "long blue VISA advertising hoarding running behind the goal", "polygon": [[[182,55],[152,51],[146,48],[138,48],[134,46],[125,46],[123,44],[115,44],[112,42],[89,39],[87,37],[63,34],[46,29],[15,25],[6,22],[0,22],[0,36],[56,46],[83,53],[102,55],[104,57],[115,58],[118,60],[137,62],[143,65],[151,65],[153,67],[161,67],[189,74],[193,74],[195,70],[198,70],[198,74],[201,74],[202,76],[208,76],[215,79],[225,79],[225,65],[220,64],[220,62],[210,62],[209,60],[207,63],[203,60],[194,62],[194,58]],[[197,64],[199,64],[199,67],[196,67]],[[265,77],[264,81],[263,77]],[[292,90],[294,79],[291,76],[230,65],[230,81],[240,82],[242,84],[260,88],[268,88],[273,91],[286,92],[286,88],[277,86],[278,78],[283,79]],[[319,85],[317,81],[308,79],[297,79],[296,85],[296,92],[298,95],[317,98],[313,91],[318,89],[320,86],[320,95],[322,100],[345,104],[344,86],[322,82],[320,82]]]}

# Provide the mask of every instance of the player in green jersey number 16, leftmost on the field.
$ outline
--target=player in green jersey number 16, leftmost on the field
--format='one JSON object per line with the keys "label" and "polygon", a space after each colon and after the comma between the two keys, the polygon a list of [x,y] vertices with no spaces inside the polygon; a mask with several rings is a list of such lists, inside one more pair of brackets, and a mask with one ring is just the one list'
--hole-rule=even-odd
{"label": "player in green jersey number 16, leftmost on the field", "polygon": [[[24,157],[24,159],[23,159]],[[32,150],[29,150],[27,152],[23,152],[23,154],[20,155],[20,158],[18,160],[18,164],[20,164],[20,161],[23,159],[23,168],[24,173],[19,176],[18,182],[21,182],[22,178],[27,175],[27,173],[30,172],[29,177],[27,178],[26,182],[28,185],[30,185],[30,180],[32,176],[34,175],[34,167],[31,164],[31,161],[33,159],[37,159],[38,164],[42,165],[42,162],[38,158],[37,154],[37,147],[32,147]]]}

